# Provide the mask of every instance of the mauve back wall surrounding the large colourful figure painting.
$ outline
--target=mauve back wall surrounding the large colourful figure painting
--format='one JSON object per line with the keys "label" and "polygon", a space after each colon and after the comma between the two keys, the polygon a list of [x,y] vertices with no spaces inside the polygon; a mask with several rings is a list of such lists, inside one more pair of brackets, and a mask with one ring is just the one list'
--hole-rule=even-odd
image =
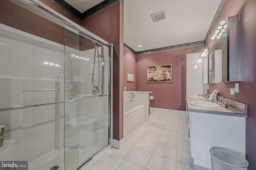
{"label": "mauve back wall surrounding the large colourful figure painting", "polygon": [[[137,55],[136,90],[152,92],[150,107],[186,109],[186,54],[204,51],[204,46]],[[172,82],[147,83],[146,66],[172,64]]]}

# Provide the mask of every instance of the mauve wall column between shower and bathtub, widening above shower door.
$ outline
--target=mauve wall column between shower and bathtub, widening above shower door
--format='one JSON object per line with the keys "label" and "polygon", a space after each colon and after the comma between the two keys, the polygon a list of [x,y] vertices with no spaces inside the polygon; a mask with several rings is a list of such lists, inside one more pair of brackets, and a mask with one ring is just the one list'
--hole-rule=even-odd
{"label": "mauve wall column between shower and bathtub, widening above shower door", "polygon": [[113,43],[113,138],[123,138],[123,13],[119,3],[82,21],[82,26]]}

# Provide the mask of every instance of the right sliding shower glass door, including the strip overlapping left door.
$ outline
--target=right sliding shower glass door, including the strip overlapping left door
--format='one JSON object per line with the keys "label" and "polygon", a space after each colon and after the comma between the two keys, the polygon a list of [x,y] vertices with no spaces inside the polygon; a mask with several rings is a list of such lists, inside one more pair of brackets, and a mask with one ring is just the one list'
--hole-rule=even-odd
{"label": "right sliding shower glass door, including the strip overlapping left door", "polygon": [[110,48],[65,25],[65,168],[109,144]]}

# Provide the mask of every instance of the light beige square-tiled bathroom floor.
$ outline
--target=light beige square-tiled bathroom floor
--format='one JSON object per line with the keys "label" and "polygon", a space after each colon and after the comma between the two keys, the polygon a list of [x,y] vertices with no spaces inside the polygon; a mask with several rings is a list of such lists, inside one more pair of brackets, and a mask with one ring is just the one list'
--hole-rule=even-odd
{"label": "light beige square-tiled bathroom floor", "polygon": [[208,170],[193,164],[187,123],[187,112],[154,109],[90,170]]}

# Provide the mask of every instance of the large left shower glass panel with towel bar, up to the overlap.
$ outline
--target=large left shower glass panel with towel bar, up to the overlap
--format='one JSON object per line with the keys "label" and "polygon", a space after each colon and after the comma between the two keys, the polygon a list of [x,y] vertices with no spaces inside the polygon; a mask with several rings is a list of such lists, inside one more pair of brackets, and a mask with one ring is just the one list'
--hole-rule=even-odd
{"label": "large left shower glass panel with towel bar, up to the overlap", "polygon": [[0,4],[0,161],[64,170],[64,23]]}

